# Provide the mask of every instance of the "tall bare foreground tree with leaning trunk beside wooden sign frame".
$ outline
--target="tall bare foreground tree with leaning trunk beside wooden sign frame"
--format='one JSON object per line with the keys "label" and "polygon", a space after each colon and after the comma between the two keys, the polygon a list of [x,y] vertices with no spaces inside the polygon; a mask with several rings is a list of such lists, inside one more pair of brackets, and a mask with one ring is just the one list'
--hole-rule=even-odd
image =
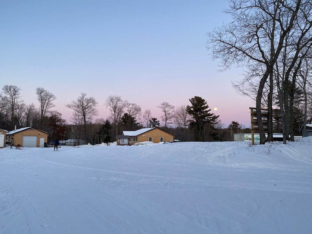
{"label": "tall bare foreground tree with leaning trunk beside wooden sign frame", "polygon": [[[298,29],[303,29],[304,33],[310,30],[311,20],[308,18],[311,17],[311,2],[306,0],[230,0],[229,3],[229,9],[225,12],[231,14],[233,21],[207,33],[207,48],[212,49],[213,59],[221,59],[220,65],[224,69],[233,64],[261,67],[261,79],[257,85],[256,108],[261,109],[263,91],[267,82],[269,86],[267,95],[268,136],[271,139],[274,66],[279,56],[283,54],[285,45],[289,44],[285,40],[292,38],[293,46],[300,48],[306,44],[298,44],[298,41],[305,39],[305,42],[308,42],[310,40],[309,37],[304,37],[304,34],[301,34],[303,37],[298,36],[301,33]],[[296,25],[298,22],[300,26]],[[299,33],[296,32],[297,30]],[[292,61],[296,62],[297,58]],[[292,63],[291,60],[289,63]],[[285,79],[286,76],[287,74]],[[280,105],[283,105],[281,101],[285,101],[288,95],[283,89],[282,92],[284,92],[284,96],[280,100]],[[266,136],[260,111],[257,111],[257,122],[260,144],[264,144]],[[283,135],[288,137],[287,133],[283,132]]]}

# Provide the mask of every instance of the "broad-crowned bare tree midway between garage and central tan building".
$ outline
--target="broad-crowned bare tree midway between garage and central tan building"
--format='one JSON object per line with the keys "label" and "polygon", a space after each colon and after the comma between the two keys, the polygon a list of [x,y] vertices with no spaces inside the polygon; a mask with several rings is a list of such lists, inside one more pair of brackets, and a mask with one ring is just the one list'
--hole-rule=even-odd
{"label": "broad-crowned bare tree midway between garage and central tan building", "polygon": [[70,104],[65,105],[74,111],[72,120],[75,121],[76,124],[83,123],[84,140],[86,144],[88,143],[87,124],[90,123],[95,116],[99,115],[99,112],[96,109],[97,105],[98,102],[95,98],[87,97],[85,93],[81,93],[77,100],[73,100]]}

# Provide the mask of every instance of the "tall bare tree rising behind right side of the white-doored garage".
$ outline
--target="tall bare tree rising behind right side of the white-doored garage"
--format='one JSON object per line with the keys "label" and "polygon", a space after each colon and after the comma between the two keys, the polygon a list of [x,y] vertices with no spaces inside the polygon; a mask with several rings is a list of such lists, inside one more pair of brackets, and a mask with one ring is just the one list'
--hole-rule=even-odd
{"label": "tall bare tree rising behind right side of the white-doored garage", "polygon": [[43,119],[47,111],[55,107],[53,101],[56,100],[56,96],[42,87],[36,88],[36,95],[40,106],[40,127],[42,128]]}

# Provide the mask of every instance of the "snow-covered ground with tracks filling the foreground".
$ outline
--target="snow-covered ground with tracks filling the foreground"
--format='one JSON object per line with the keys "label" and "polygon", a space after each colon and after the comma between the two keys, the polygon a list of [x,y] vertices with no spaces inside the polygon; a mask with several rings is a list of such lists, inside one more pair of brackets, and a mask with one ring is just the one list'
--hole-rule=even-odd
{"label": "snow-covered ground with tracks filling the foreground", "polygon": [[0,149],[0,233],[311,233],[311,142]]}

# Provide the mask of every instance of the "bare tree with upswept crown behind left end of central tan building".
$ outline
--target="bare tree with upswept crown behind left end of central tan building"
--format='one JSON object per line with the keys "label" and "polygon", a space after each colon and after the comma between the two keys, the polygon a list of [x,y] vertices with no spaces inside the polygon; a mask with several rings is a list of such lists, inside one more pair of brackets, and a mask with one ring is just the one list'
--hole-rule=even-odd
{"label": "bare tree with upswept crown behind left end of central tan building", "polygon": [[117,139],[117,135],[119,133],[120,118],[124,113],[124,109],[128,105],[128,101],[123,100],[122,97],[119,95],[110,95],[106,99],[104,105],[106,106],[106,108],[109,108],[110,110],[110,116],[114,121],[115,127],[114,139]]}

